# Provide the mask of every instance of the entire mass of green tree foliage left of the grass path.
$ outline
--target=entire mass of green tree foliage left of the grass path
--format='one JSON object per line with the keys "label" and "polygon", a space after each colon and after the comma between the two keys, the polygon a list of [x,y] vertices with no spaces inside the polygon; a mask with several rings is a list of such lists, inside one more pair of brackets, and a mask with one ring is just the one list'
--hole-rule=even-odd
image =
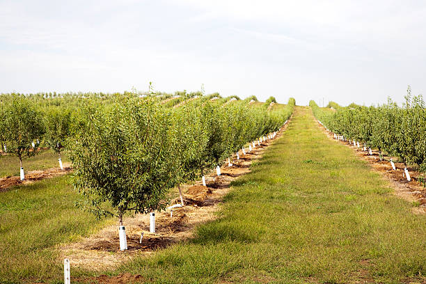
{"label": "entire mass of green tree foliage left of the grass path", "polygon": [[[276,131],[295,101],[267,111],[235,100],[189,100],[165,107],[158,95],[79,96],[65,106],[22,95],[1,97],[0,141],[19,157],[48,145],[65,149],[74,168],[80,205],[96,216],[164,209],[168,189],[203,175],[246,143]],[[212,95],[216,97],[216,95]],[[64,99],[65,100],[65,99]],[[251,97],[250,100],[253,100]]]}

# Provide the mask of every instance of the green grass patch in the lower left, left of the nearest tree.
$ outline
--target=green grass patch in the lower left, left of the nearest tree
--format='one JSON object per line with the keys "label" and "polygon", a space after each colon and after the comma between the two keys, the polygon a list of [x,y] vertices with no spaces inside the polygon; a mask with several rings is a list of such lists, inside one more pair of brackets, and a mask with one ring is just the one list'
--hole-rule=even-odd
{"label": "green grass patch in the lower left, left of the nearest tree", "polygon": [[54,246],[104,223],[74,207],[79,198],[68,175],[0,194],[0,283],[63,279],[63,260]]}

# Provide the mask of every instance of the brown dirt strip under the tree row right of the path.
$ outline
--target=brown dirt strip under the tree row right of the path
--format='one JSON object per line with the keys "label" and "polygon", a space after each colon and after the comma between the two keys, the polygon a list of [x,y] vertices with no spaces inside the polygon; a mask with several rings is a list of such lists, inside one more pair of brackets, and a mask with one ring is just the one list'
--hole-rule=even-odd
{"label": "brown dirt strip under the tree row right of the path", "polygon": [[[418,203],[418,207],[413,207],[413,213],[426,214],[426,188],[418,182],[418,178],[420,176],[420,173],[418,173],[418,171],[416,171],[412,167],[407,167],[411,176],[411,181],[409,182],[404,176],[404,163],[395,162],[396,170],[393,170],[392,166],[390,166],[389,161],[385,159],[383,159],[383,161],[380,160],[379,151],[372,150],[372,155],[369,155],[368,151],[363,151],[361,145],[361,148],[357,148],[353,144],[349,144],[349,141],[341,141],[338,139],[334,139],[332,132],[328,132],[325,127],[319,124],[315,118],[314,120],[322,129],[324,134],[329,137],[329,139],[332,139],[337,143],[352,148],[358,157],[365,161],[368,161],[368,164],[370,164],[374,171],[381,173],[381,175],[390,182],[390,185],[395,190],[394,194],[396,196],[404,198],[409,202]],[[390,157],[388,158],[390,159]],[[396,160],[397,159],[395,158],[393,159],[393,161]]]}

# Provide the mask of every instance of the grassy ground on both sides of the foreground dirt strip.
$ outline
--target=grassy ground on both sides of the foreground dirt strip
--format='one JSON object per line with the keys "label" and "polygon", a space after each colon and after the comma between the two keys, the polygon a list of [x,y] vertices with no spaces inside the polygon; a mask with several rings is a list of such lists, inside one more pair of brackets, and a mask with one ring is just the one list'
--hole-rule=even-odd
{"label": "grassy ground on both sides of the foreground dirt strip", "polygon": [[[401,283],[426,275],[426,216],[413,215],[365,161],[327,139],[308,109],[296,110],[285,136],[233,183],[219,219],[190,242],[108,273],[154,283]],[[0,283],[61,283],[54,246],[109,222],[74,207],[79,196],[67,180],[0,194]]]}

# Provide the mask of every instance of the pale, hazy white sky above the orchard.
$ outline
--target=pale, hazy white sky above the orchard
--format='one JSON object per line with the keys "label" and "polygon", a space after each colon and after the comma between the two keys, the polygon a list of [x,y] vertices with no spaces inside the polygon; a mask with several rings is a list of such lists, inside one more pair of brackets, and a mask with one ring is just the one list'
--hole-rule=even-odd
{"label": "pale, hazy white sky above the orchard", "polygon": [[347,105],[426,92],[426,1],[0,0],[0,93],[219,92]]}

